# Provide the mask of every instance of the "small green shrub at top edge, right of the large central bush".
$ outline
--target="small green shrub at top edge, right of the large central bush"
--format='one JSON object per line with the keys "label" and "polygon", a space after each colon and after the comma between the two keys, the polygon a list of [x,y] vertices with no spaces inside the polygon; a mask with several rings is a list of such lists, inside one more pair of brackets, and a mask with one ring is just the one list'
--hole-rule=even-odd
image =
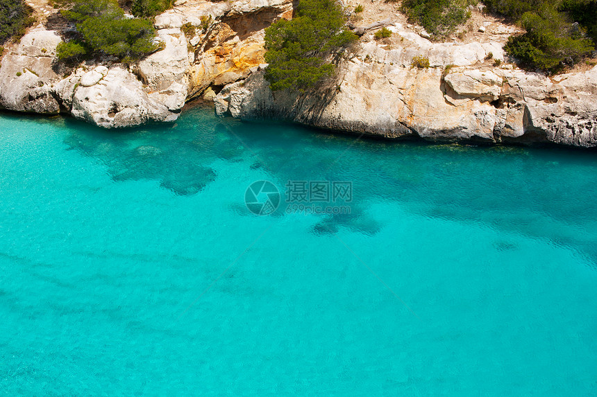
{"label": "small green shrub at top edge, right of the large central bush", "polygon": [[411,24],[419,24],[432,37],[440,38],[471,17],[465,4],[458,0],[404,0],[400,10]]}

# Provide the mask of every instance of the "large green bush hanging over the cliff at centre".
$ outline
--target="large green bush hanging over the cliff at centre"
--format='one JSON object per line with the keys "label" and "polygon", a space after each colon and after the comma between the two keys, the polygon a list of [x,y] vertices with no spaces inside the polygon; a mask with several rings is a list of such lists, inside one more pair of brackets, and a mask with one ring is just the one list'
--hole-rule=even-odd
{"label": "large green bush hanging over the cliff at centre", "polygon": [[[273,91],[305,91],[333,76],[333,62],[358,37],[345,30],[346,17],[335,0],[301,0],[296,17],[265,30],[265,78]],[[330,60],[332,60],[330,62]]]}

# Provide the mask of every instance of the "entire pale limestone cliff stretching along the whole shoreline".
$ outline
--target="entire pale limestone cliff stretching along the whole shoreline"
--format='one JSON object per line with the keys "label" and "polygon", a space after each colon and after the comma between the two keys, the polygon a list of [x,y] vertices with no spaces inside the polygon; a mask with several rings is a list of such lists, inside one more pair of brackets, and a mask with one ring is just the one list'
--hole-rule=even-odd
{"label": "entire pale limestone cliff stretching along the whole shoreline", "polygon": [[[597,67],[553,78],[521,71],[502,50],[515,28],[475,10],[475,35],[432,43],[394,7],[380,3],[370,17],[387,18],[366,17],[356,28],[362,38],[337,79],[303,95],[272,93],[263,78],[264,28],[292,17],[288,0],[178,1],[155,19],[165,49],[130,67],[87,63],[63,73],[60,31],[40,24],[3,55],[0,107],[124,127],[174,121],[187,100],[204,95],[217,114],[245,120],[392,139],[597,146]],[[193,37],[184,24],[197,26]],[[380,26],[394,32],[391,39],[373,39]],[[430,67],[412,67],[415,56]]]}

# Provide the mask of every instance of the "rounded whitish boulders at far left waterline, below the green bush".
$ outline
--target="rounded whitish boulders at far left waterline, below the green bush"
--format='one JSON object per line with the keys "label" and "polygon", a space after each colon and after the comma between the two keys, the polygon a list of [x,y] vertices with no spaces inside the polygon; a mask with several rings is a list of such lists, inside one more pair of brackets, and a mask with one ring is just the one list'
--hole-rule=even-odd
{"label": "rounded whitish boulders at far left waterline, below the green bush", "polygon": [[[25,35],[0,67],[0,107],[18,112],[58,114],[101,127],[128,127],[151,121],[174,121],[170,98],[150,98],[135,74],[119,65],[76,69],[62,78],[56,73],[58,33],[38,27]],[[186,89],[186,87],[185,87]],[[180,111],[186,96],[175,110]]]}

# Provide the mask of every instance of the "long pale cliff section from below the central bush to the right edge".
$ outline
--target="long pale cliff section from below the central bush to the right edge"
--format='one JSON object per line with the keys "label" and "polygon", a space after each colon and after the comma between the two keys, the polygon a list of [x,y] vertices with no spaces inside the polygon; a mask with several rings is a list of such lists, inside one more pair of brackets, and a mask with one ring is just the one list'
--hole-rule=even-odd
{"label": "long pale cliff section from below the central bush to the right edge", "polygon": [[[413,37],[409,44],[363,44],[339,78],[314,95],[272,93],[255,70],[219,93],[216,112],[392,139],[597,146],[597,67],[552,81],[485,62],[490,52],[503,58],[496,42],[459,46]],[[432,67],[411,67],[415,55]]]}

